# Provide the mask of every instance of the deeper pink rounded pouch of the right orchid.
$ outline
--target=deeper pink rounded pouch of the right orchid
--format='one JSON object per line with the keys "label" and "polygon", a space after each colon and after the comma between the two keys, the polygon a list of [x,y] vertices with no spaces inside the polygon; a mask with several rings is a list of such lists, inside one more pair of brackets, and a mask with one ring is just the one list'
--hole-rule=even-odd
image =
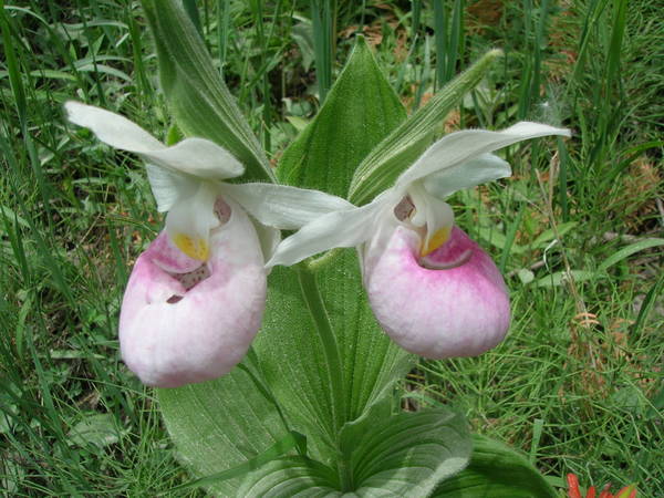
{"label": "deeper pink rounded pouch of the right orchid", "polygon": [[453,228],[449,240],[419,264],[419,236],[396,227],[385,246],[371,245],[364,281],[385,332],[422,356],[474,356],[496,346],[509,326],[500,272],[477,243]]}

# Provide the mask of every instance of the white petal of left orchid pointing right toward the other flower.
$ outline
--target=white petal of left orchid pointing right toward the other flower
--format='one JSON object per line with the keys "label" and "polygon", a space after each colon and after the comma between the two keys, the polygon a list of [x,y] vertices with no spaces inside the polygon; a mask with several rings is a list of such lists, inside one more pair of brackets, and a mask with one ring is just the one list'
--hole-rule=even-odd
{"label": "white petal of left orchid pointing right toward the other flower", "polygon": [[222,191],[264,225],[295,230],[331,211],[354,206],[319,190],[274,184],[226,184]]}

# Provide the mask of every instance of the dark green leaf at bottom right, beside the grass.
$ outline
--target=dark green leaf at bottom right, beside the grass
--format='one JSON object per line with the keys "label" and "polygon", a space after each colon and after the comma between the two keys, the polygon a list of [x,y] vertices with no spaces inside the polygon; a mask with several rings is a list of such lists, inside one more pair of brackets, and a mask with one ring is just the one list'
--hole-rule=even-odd
{"label": "dark green leaf at bottom right, beside the grass", "polygon": [[470,465],[444,481],[435,498],[556,498],[543,476],[509,446],[485,436],[473,437]]}

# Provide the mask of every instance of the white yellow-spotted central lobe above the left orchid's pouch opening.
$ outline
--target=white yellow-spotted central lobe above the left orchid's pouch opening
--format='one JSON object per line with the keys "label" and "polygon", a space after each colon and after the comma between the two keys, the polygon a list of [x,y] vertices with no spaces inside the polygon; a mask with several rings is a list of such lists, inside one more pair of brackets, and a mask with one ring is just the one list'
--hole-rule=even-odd
{"label": "white yellow-spotted central lobe above the left orchid's pouch opening", "polygon": [[220,221],[215,215],[217,193],[212,185],[200,183],[193,197],[178,199],[166,215],[166,232],[173,243],[189,258],[207,261],[210,230]]}

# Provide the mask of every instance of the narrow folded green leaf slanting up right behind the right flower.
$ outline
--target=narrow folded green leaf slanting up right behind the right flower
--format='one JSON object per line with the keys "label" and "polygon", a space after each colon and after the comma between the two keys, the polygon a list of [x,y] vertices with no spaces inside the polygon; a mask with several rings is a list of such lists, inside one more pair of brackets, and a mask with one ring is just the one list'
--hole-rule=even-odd
{"label": "narrow folded green leaf slanting up right behind the right flower", "polygon": [[391,187],[398,175],[430,145],[436,127],[447,113],[481,81],[491,63],[500,55],[500,50],[487,52],[468,70],[440,89],[424,107],[393,129],[355,170],[349,200],[360,206]]}

